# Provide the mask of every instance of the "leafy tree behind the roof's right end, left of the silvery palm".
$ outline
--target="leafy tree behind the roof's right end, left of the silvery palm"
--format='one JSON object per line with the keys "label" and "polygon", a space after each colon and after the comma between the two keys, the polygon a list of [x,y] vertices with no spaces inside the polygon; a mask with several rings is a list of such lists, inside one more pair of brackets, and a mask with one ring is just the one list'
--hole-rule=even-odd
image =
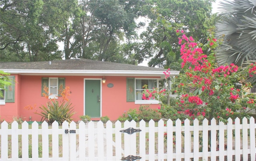
{"label": "leafy tree behind the roof's right end, left of the silvery palm", "polygon": [[209,25],[211,4],[212,0],[147,0],[144,12],[150,23],[140,35],[143,41],[140,54],[152,57],[148,65],[180,70],[180,47],[173,29],[183,29],[196,41],[206,42],[204,35],[213,26]]}

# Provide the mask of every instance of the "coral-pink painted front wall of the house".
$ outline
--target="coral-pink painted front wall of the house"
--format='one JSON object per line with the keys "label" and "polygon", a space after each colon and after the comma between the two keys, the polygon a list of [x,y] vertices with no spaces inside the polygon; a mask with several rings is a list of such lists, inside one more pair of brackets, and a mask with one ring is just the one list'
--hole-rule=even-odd
{"label": "coral-pink painted front wall of the house", "polygon": [[[19,116],[23,120],[40,121],[41,116],[35,114],[40,112],[39,107],[46,105],[48,99],[41,96],[42,77],[55,76],[20,76],[16,75],[15,103],[6,103],[1,105],[1,119],[12,121],[12,117]],[[74,105],[73,120],[78,121],[80,115],[84,115],[84,79],[85,78],[103,78],[103,76],[59,76],[65,78],[65,86],[70,87],[70,99]],[[125,76],[105,76],[106,83],[102,83],[102,116],[110,117],[110,120],[116,120],[125,111],[129,109],[138,109],[140,104],[126,102],[126,77]],[[108,83],[113,83],[113,87],[107,87]],[[62,98],[59,97],[59,100]],[[150,107],[157,108],[158,104],[152,104]],[[30,109],[32,107],[32,109]],[[96,118],[99,120],[100,118]]]}

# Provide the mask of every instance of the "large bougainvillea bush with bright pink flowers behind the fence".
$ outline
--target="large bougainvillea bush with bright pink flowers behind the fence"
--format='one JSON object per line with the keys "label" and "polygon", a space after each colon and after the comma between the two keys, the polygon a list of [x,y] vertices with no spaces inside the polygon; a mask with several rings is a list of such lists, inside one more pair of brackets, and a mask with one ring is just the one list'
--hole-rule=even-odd
{"label": "large bougainvillea bush with bright pink flowers behind the fence", "polygon": [[[246,68],[234,64],[218,66],[212,58],[219,42],[211,34],[208,44],[202,46],[183,31],[177,30],[177,33],[181,34],[178,43],[181,45],[182,72],[175,78],[174,91],[179,97],[174,105],[160,104],[162,116],[171,119],[215,118],[224,122],[228,117],[248,117],[250,110],[256,109],[256,95],[246,92],[252,87],[246,78],[256,74],[256,63]],[[209,57],[203,53],[205,46],[212,50]],[[166,79],[169,79],[169,70],[164,72]],[[144,91],[156,99],[165,92]]]}

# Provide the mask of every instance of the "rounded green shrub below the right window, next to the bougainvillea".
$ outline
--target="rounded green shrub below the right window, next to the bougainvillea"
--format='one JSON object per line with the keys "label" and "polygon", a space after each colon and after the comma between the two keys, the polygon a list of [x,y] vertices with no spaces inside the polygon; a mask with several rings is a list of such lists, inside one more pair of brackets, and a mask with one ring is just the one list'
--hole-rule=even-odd
{"label": "rounded green shrub below the right window, next to the bougainvillea", "polygon": [[156,109],[151,109],[149,105],[141,105],[138,111],[138,120],[150,121],[159,121],[161,119],[160,113]]}

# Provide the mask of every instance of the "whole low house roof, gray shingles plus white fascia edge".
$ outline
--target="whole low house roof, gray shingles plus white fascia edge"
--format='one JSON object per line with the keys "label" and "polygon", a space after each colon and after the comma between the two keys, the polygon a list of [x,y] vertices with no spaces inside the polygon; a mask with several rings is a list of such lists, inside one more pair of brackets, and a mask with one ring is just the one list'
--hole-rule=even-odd
{"label": "whole low house roof, gray shingles plus white fascia edge", "polygon": [[[102,62],[88,59],[52,60],[42,62],[1,62],[0,70],[20,75],[79,75],[79,76],[161,76],[166,69]],[[170,76],[179,71],[170,70]]]}

